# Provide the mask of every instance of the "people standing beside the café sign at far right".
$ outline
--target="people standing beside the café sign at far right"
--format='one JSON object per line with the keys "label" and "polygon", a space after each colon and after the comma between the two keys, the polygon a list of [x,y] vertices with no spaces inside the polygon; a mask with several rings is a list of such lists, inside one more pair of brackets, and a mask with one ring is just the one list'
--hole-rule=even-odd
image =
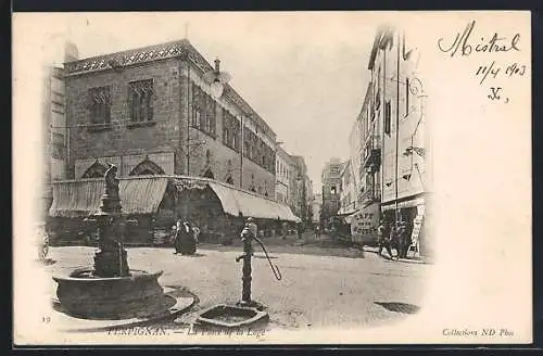
{"label": "people standing beside the caf\u00e9 sign at far right", "polygon": [[[390,259],[406,258],[407,252],[412,244],[411,229],[405,221],[396,221],[391,224],[389,221],[381,221],[377,229],[379,255],[382,255],[382,250],[387,250]],[[392,249],[396,250],[396,255],[392,254]]]}

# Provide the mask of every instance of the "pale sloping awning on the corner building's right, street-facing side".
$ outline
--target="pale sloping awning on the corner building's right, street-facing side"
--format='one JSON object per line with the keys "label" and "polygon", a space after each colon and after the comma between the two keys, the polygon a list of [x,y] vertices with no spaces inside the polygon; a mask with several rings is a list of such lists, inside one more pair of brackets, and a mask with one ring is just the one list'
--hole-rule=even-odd
{"label": "pale sloping awning on the corner building's right, street-facing side", "polygon": [[220,200],[225,213],[232,216],[254,217],[282,221],[301,221],[292,214],[288,205],[258,196],[218,182],[209,182],[209,186]]}

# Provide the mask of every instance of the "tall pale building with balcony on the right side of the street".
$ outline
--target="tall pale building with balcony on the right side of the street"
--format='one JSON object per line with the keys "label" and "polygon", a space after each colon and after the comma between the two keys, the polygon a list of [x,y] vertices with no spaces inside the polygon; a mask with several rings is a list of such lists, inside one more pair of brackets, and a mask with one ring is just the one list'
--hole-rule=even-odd
{"label": "tall pale building with balcony on the right side of the street", "polygon": [[428,224],[431,151],[426,124],[424,61],[405,33],[383,26],[375,37],[365,127],[364,167],[370,195],[380,195],[383,218],[406,221],[421,255],[431,255]]}

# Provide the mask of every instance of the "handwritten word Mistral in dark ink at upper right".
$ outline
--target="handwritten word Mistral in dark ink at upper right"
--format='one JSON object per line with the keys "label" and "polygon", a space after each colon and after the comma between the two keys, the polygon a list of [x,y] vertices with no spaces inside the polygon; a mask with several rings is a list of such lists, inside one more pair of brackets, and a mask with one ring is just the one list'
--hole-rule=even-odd
{"label": "handwritten word Mistral in dark ink at upper right", "polygon": [[476,52],[485,53],[520,51],[520,34],[516,34],[510,40],[508,40],[505,37],[498,37],[497,33],[494,33],[490,39],[485,40],[484,37],[481,37],[481,41],[477,44],[473,44],[473,42],[470,41],[470,36],[473,31],[475,26],[476,21],[473,20],[468,23],[462,35],[460,33],[456,34],[453,43],[451,43],[449,47],[443,43],[444,39],[440,38],[438,40],[438,48],[442,52],[449,52],[451,56],[455,56],[457,53],[459,55],[469,55],[471,54],[473,49]]}

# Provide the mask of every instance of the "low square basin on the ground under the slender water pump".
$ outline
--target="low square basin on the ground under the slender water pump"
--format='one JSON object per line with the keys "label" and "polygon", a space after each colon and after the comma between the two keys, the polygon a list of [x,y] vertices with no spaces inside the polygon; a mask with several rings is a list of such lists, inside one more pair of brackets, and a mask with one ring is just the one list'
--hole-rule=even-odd
{"label": "low square basin on the ground under the slender water pump", "polygon": [[241,328],[267,321],[268,318],[266,312],[256,308],[219,304],[202,313],[195,323],[197,326]]}

